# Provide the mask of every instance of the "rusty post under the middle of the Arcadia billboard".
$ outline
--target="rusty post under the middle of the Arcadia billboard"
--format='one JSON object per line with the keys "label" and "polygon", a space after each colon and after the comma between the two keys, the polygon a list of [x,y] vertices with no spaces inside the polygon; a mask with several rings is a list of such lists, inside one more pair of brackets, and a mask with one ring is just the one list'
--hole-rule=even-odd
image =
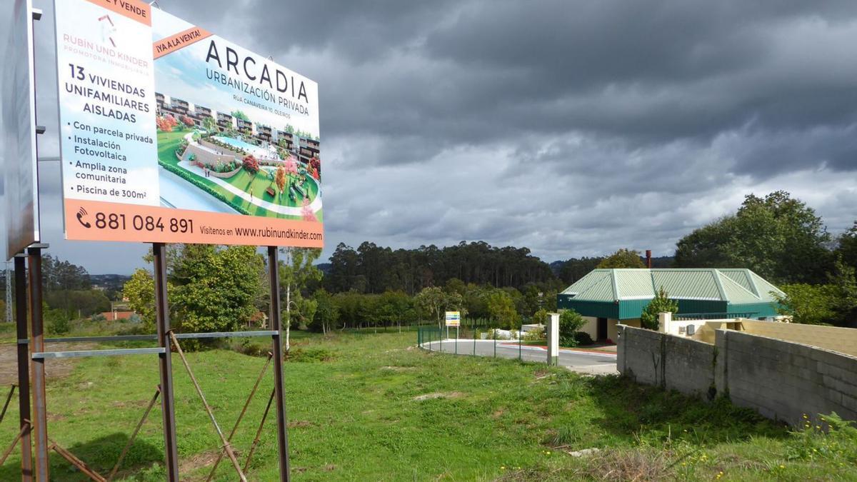
{"label": "rusty post under the middle of the Arcadia billboard", "polygon": [[161,418],[164,425],[164,454],[167,479],[178,482],[178,449],[176,443],[176,409],[172,391],[172,358],[170,353],[170,308],[166,293],[166,247],[153,243],[155,260],[155,319],[158,325],[158,346],[165,348],[158,355],[160,368]]}

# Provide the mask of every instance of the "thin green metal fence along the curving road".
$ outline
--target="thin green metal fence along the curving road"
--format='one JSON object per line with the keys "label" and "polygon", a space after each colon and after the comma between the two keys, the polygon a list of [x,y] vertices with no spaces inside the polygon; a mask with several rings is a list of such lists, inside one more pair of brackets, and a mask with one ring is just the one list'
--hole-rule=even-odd
{"label": "thin green metal fence along the curving road", "polygon": [[545,332],[524,331],[524,325],[512,330],[494,328],[417,328],[417,346],[424,350],[456,355],[493,358],[518,358],[521,361],[546,361]]}

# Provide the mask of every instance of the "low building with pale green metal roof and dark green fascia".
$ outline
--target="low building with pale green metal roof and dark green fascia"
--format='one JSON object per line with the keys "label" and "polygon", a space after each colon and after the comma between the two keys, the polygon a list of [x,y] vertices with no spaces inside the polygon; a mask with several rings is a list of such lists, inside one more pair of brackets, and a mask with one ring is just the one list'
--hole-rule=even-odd
{"label": "low building with pale green metal roof and dark green fascia", "polygon": [[616,325],[640,326],[640,314],[663,287],[679,304],[678,316],[765,318],[776,316],[776,286],[749,269],[593,269],[557,295],[560,310],[586,320],[592,340],[616,340]]}

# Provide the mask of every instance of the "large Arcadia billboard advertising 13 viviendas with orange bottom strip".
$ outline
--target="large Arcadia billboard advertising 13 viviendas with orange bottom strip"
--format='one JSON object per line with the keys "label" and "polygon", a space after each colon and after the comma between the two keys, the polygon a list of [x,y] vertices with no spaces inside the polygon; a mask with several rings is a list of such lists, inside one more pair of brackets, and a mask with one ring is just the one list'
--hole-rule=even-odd
{"label": "large Arcadia billboard advertising 13 viviendas with orange bottom strip", "polygon": [[55,7],[66,238],[322,247],[314,81],[137,0]]}

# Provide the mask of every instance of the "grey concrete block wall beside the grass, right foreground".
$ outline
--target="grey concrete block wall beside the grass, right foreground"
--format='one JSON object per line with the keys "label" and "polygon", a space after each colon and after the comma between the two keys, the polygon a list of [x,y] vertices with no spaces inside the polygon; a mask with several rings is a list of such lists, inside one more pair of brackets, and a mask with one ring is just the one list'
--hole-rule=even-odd
{"label": "grey concrete block wall beside the grass, right foreground", "polygon": [[857,420],[857,357],[746,332],[718,329],[710,345],[620,325],[616,365],[638,383],[712,400],[728,395],[770,419],[804,413]]}

